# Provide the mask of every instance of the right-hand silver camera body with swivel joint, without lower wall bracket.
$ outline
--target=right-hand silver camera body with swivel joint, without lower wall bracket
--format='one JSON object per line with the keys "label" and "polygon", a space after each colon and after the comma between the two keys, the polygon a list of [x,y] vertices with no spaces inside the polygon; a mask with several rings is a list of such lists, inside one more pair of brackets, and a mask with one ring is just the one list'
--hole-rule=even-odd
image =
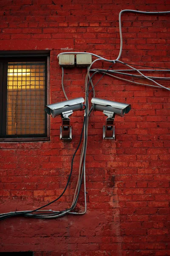
{"label": "right-hand silver camera body with swivel joint, without lower wall bracket", "polygon": [[109,118],[111,118],[113,115],[124,116],[131,109],[130,104],[113,102],[106,99],[92,98],[91,103],[93,103],[94,111],[102,111]]}

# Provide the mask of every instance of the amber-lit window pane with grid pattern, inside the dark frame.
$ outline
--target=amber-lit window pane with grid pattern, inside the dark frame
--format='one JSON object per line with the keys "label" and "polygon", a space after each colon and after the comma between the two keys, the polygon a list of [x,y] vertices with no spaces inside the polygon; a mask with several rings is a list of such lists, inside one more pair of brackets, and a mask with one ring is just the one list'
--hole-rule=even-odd
{"label": "amber-lit window pane with grid pattern, inside the dark frame", "polygon": [[8,135],[45,133],[45,62],[8,63]]}

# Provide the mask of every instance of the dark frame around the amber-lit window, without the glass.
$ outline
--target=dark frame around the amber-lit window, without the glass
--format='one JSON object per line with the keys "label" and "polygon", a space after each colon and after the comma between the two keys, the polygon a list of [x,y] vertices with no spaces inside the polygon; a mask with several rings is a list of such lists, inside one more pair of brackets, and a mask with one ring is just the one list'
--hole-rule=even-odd
{"label": "dark frame around the amber-lit window, without the glass", "polygon": [[[0,51],[0,120],[4,120],[3,123],[6,123],[7,119],[7,90],[4,90],[4,86],[7,85],[8,79],[8,62],[18,62],[18,61],[40,61],[43,60],[46,62],[46,72],[45,72],[45,99],[46,104],[50,102],[50,56],[49,52],[3,52]],[[2,64],[4,63],[4,64]],[[46,115],[45,119],[45,130],[46,136],[40,136],[40,134],[21,134],[20,137],[16,135],[7,135],[6,134],[6,125],[0,125],[0,142],[34,142],[34,141],[49,141],[50,140],[50,116]],[[6,135],[3,135],[6,134]],[[4,136],[4,137],[3,137]]]}

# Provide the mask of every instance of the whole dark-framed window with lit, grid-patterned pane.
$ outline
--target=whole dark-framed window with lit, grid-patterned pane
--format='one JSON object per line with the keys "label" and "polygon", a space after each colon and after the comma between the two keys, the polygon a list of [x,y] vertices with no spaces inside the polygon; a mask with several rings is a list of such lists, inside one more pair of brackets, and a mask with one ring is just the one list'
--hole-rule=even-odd
{"label": "whole dark-framed window with lit, grid-patterned pane", "polygon": [[0,58],[0,140],[49,140],[48,56]]}

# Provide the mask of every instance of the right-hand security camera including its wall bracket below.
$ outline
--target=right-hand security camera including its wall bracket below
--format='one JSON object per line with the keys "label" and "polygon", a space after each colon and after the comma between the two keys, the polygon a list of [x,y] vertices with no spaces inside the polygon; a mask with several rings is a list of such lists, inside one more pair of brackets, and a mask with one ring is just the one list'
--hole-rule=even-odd
{"label": "right-hand security camera including its wall bracket below", "polygon": [[94,111],[101,111],[108,116],[106,125],[103,126],[103,139],[115,139],[114,117],[129,113],[131,105],[99,98],[92,98],[91,103]]}

